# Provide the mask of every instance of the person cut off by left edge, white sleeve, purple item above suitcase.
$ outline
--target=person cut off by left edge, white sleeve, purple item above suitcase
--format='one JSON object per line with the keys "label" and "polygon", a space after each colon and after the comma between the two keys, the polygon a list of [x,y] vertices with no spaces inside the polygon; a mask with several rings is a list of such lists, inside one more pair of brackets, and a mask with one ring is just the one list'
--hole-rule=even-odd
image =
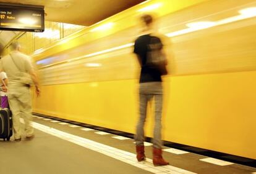
{"label": "person cut off by left edge, white sleeve, purple item above suitcase", "polygon": [[2,90],[0,92],[1,95],[1,108],[9,108],[8,98],[7,98],[7,76],[5,72],[0,73],[0,85]]}

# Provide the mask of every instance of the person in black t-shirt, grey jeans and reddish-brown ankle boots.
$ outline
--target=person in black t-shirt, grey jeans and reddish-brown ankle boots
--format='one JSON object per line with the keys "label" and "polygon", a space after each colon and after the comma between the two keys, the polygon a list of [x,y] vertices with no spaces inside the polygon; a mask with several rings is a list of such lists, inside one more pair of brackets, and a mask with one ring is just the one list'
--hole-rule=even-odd
{"label": "person in black t-shirt, grey jeans and reddish-brown ankle boots", "polygon": [[[161,117],[162,117],[162,103],[163,103],[163,89],[161,70],[148,65],[148,53],[150,52],[151,41],[153,40],[160,50],[163,49],[163,44],[160,38],[151,36],[153,29],[153,18],[151,15],[143,15],[142,23],[145,26],[143,35],[136,39],[134,45],[134,53],[137,55],[141,66],[140,72],[140,117],[136,127],[136,134],[134,136],[136,143],[137,160],[145,160],[144,154],[144,124],[147,116],[147,103],[155,98],[155,128],[153,133],[153,164],[168,165],[162,157],[161,144]],[[154,46],[154,45],[153,45]],[[167,61],[165,60],[165,65]],[[165,68],[164,65],[164,68]],[[167,73],[167,71],[166,71]]]}

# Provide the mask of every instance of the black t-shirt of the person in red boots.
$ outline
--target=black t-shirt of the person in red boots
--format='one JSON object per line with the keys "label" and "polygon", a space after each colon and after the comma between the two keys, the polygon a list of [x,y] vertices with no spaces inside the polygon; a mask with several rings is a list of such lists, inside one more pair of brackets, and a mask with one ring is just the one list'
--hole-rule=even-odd
{"label": "black t-shirt of the person in red boots", "polygon": [[[160,71],[146,65],[148,44],[150,44],[151,37],[157,38],[155,36],[150,36],[150,34],[146,34],[137,38],[134,44],[134,53],[139,55],[140,61],[142,63],[142,69],[140,71],[140,83],[162,81]],[[161,43],[160,39],[159,42]]]}

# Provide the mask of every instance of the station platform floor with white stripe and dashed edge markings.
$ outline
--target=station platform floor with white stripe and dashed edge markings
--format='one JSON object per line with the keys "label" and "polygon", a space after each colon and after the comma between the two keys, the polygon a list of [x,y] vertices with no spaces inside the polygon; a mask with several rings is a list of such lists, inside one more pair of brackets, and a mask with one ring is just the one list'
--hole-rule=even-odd
{"label": "station platform floor with white stripe and dashed edge markings", "polygon": [[38,116],[33,127],[33,140],[0,141],[1,174],[256,173],[256,168],[167,147],[163,155],[170,165],[153,167],[150,143],[147,161],[137,162],[130,138]]}

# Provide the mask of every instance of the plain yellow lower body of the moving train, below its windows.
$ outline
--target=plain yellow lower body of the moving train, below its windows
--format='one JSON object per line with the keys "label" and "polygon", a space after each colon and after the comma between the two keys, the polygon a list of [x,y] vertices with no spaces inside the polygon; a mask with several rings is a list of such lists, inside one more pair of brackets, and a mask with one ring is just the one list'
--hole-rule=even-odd
{"label": "plain yellow lower body of the moving train, below its windows", "polygon": [[[163,139],[256,159],[256,71],[164,79]],[[34,112],[134,133],[137,81],[46,85]],[[54,102],[53,102],[54,100]],[[146,133],[152,135],[152,117]]]}

